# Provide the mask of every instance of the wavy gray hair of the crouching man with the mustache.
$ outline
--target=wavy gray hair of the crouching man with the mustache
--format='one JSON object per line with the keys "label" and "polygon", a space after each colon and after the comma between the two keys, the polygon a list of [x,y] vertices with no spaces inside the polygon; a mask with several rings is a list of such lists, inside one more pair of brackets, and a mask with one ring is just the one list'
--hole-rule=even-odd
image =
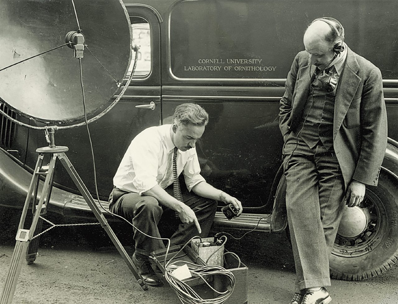
{"label": "wavy gray hair of the crouching man with the mustache", "polygon": [[175,125],[205,126],[209,122],[209,114],[196,103],[183,103],[174,110],[173,123]]}

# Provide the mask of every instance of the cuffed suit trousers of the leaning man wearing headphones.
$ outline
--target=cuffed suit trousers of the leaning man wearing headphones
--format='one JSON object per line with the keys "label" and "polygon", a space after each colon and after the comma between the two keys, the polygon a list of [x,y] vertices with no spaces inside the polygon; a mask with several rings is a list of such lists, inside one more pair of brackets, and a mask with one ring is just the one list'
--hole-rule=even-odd
{"label": "cuffed suit trousers of the leaning man wearing headphones", "polygon": [[295,133],[283,148],[286,208],[296,291],[330,286],[329,255],[344,208],[344,181],[334,150],[309,148]]}

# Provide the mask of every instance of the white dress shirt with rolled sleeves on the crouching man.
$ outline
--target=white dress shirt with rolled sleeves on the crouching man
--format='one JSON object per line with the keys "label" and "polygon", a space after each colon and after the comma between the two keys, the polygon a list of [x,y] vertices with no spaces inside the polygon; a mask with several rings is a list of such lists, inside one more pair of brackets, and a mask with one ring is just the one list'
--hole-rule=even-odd
{"label": "white dress shirt with rolled sleeves on the crouching man", "polygon": [[[173,183],[171,125],[149,127],[131,141],[113,177],[115,187],[140,195],[156,184],[163,189]],[[205,179],[200,175],[195,148],[177,152],[177,173],[183,173],[189,191]]]}

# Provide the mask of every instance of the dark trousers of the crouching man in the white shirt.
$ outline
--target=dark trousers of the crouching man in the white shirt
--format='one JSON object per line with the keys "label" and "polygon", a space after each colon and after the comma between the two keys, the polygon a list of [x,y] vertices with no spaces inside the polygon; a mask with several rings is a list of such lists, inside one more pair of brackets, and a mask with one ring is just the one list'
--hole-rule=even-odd
{"label": "dark trousers of the crouching man in the white shirt", "polygon": [[[173,195],[172,186],[165,190]],[[181,189],[181,191],[183,203],[196,214],[202,229],[201,234],[198,233],[195,224],[181,223],[181,220],[176,218],[174,210],[161,205],[154,197],[129,193],[117,188],[113,189],[110,195],[109,210],[126,218],[145,234],[158,238],[150,238],[133,228],[133,239],[137,253],[149,256],[152,251],[164,248],[164,242],[160,238],[170,238],[170,246],[173,246],[185,244],[197,235],[201,238],[207,237],[213,224],[217,202],[199,197],[192,192],[188,192],[186,188]],[[111,199],[112,196],[113,199]]]}

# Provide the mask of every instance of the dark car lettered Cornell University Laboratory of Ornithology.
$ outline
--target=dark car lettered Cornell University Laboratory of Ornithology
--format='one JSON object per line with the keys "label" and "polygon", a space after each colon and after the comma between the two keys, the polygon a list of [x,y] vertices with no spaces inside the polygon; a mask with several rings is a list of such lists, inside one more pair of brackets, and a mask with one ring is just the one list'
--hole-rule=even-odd
{"label": "dark car lettered Cornell University Laboratory of Ornithology", "polygon": [[[347,45],[381,70],[388,144],[378,186],[367,187],[363,202],[347,209],[343,216],[330,257],[331,276],[368,279],[398,261],[398,2],[123,3],[140,62],[123,97],[106,115],[88,125],[97,184],[86,126],[56,133],[56,143],[68,146],[70,162],[93,197],[98,189],[105,209],[113,175],[131,140],[147,127],[170,123],[177,105],[193,102],[205,108],[210,117],[197,142],[202,175],[244,206],[240,217],[228,220],[220,212],[220,203],[214,228],[264,233],[287,230],[279,101],[293,58],[304,49],[306,25],[315,18],[332,16],[345,27]],[[133,65],[129,73],[132,70]],[[19,116],[4,103],[1,110],[10,117]],[[7,117],[1,119],[0,206],[20,209],[37,161],[36,148],[47,146],[47,142],[42,130],[20,127]],[[47,212],[70,221],[93,218],[64,168],[56,164],[55,169]],[[103,214],[113,220],[105,210]]]}

